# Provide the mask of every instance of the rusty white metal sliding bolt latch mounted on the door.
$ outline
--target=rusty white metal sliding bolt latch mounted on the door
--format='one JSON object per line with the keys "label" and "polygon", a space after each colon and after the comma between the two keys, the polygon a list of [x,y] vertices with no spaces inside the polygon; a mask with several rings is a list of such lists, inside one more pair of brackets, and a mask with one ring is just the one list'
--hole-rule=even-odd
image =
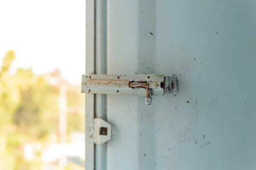
{"label": "rusty white metal sliding bolt latch mounted on the door", "polygon": [[155,74],[111,75],[91,74],[82,76],[81,93],[130,94],[145,96],[145,104],[151,105],[151,96],[176,95],[177,76]]}

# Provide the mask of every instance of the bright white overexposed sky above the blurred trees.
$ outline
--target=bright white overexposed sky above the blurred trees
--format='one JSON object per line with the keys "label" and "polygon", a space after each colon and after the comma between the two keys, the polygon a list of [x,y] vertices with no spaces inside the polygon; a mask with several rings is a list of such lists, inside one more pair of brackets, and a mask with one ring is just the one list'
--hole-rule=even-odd
{"label": "bright white overexposed sky above the blurred trees", "polygon": [[85,0],[0,0],[0,60],[9,49],[16,52],[14,68],[41,74],[59,67],[65,79],[79,83],[85,71]]}

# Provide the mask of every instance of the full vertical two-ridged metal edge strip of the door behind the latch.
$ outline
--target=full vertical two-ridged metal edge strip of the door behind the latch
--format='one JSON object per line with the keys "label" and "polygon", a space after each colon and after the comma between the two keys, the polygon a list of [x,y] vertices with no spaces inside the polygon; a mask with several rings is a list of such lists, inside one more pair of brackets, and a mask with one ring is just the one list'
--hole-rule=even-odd
{"label": "full vertical two-ridged metal edge strip of the door behind the latch", "polygon": [[[85,74],[107,74],[107,0],[86,1],[85,62]],[[92,137],[94,118],[107,121],[107,95],[85,96],[85,169],[107,170],[107,142],[94,144]]]}

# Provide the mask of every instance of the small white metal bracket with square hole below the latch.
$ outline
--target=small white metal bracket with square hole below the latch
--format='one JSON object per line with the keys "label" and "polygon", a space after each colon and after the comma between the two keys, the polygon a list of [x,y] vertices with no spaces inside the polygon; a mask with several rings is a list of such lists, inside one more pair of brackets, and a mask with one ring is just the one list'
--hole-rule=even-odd
{"label": "small white metal bracket with square hole below the latch", "polygon": [[112,126],[103,119],[93,119],[93,137],[95,144],[108,142],[112,137]]}

